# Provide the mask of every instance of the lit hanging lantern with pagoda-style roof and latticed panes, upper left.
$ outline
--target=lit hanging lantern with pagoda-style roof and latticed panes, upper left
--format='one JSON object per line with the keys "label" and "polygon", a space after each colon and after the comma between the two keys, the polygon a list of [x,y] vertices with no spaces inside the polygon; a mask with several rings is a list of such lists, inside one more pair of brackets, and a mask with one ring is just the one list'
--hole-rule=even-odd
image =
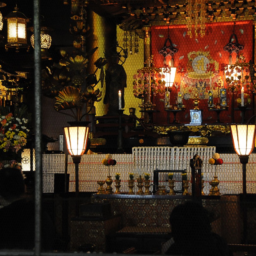
{"label": "lit hanging lantern with pagoda-style roof and latticed panes, upper left", "polygon": [[18,12],[17,5],[14,8],[14,11],[9,13],[4,20],[7,20],[7,40],[8,43],[5,44],[5,49],[15,48],[16,52],[19,52],[20,48],[27,48],[29,50],[29,46],[27,45],[27,33],[26,26],[27,22],[29,22],[29,18],[27,18],[23,13]]}

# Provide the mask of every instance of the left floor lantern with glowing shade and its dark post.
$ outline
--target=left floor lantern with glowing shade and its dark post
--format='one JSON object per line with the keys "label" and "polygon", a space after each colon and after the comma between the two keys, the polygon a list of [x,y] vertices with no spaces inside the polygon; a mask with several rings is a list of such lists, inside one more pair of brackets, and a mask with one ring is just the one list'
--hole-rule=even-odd
{"label": "left floor lantern with glowing shade and its dark post", "polygon": [[64,134],[67,143],[67,150],[71,154],[73,163],[75,164],[75,188],[76,188],[76,217],[79,216],[79,164],[81,156],[86,151],[87,141],[89,137],[89,127],[70,126],[64,127]]}

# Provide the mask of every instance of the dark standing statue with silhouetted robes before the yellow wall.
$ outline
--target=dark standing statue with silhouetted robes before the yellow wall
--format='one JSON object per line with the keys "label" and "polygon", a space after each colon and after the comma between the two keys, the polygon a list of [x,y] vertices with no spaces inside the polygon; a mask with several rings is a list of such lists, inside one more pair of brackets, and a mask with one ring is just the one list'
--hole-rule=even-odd
{"label": "dark standing statue with silhouetted robes before the yellow wall", "polygon": [[108,114],[117,114],[119,109],[119,90],[121,91],[122,108],[125,107],[126,73],[122,65],[119,64],[120,54],[115,52],[111,56],[109,67],[106,70],[106,93],[103,103],[108,104]]}

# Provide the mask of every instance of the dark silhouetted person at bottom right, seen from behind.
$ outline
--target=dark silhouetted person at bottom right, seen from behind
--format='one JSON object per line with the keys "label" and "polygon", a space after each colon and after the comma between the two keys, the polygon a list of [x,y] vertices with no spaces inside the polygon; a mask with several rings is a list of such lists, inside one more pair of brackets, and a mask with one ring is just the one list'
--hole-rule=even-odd
{"label": "dark silhouetted person at bottom right, seen from behind", "polygon": [[230,256],[225,241],[211,231],[207,211],[201,204],[187,201],[170,214],[173,243],[166,255]]}

